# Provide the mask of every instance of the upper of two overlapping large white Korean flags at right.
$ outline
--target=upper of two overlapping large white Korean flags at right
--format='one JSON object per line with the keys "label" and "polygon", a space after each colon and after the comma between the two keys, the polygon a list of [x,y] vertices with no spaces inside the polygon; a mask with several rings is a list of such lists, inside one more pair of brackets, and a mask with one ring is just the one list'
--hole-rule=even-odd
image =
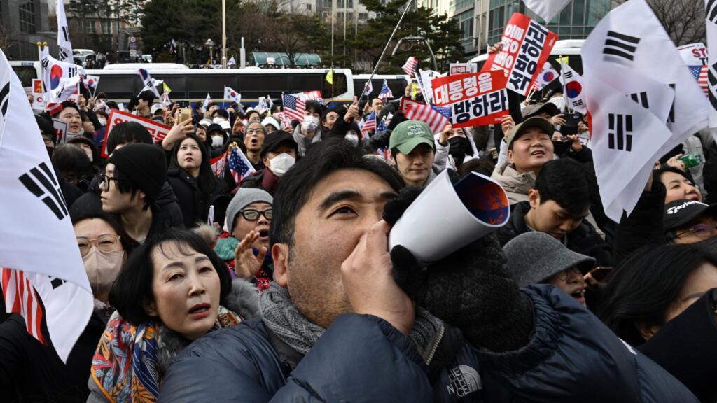
{"label": "upper of two overlapping large white Korean flags at right", "polygon": [[707,127],[708,100],[645,0],[630,0],[612,9],[585,40],[581,56],[584,75],[614,88],[619,88],[620,78],[614,67],[672,87],[673,120],[667,124],[675,143]]}

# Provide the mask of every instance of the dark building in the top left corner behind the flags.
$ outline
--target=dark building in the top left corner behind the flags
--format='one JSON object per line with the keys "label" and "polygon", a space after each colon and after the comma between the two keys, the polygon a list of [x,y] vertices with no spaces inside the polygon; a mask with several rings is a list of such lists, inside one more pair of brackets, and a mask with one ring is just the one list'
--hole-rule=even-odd
{"label": "dark building in the top left corner behind the flags", "polygon": [[0,44],[13,60],[37,60],[37,42],[57,52],[57,32],[49,32],[47,1],[0,0]]}

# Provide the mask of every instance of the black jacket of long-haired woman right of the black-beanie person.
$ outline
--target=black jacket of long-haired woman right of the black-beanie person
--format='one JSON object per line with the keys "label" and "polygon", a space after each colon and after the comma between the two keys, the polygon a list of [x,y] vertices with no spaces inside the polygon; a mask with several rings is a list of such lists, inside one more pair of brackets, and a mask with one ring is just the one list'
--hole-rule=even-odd
{"label": "black jacket of long-haired woman right of the black-beanie person", "polygon": [[174,189],[185,228],[193,228],[198,222],[206,222],[210,206],[214,206],[213,222],[224,223],[224,214],[232,198],[224,181],[212,179],[214,180],[204,184],[206,190],[202,191],[197,180],[184,169],[171,168],[167,171],[167,181]]}

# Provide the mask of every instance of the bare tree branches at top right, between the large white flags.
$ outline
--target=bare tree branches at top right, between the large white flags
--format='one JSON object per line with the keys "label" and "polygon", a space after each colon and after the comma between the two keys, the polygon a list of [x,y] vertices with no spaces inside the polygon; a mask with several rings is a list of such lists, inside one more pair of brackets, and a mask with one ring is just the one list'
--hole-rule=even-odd
{"label": "bare tree branches at top right, between the large white flags", "polygon": [[[625,3],[614,0],[613,5]],[[704,0],[647,0],[676,46],[705,41]]]}

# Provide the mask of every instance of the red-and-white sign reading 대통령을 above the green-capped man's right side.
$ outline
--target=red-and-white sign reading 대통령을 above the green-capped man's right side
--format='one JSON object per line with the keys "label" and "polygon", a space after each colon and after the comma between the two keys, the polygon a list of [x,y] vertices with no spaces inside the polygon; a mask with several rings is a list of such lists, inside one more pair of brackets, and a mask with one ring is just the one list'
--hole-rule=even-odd
{"label": "red-and-white sign reading \ub300\ud1b5\ub839\uc744 above the green-capped man's right side", "polygon": [[[500,123],[503,115],[508,114],[508,93],[503,72],[495,70],[473,75],[479,82],[478,94],[450,105],[451,123],[455,128]],[[436,80],[433,80],[434,85]]]}

